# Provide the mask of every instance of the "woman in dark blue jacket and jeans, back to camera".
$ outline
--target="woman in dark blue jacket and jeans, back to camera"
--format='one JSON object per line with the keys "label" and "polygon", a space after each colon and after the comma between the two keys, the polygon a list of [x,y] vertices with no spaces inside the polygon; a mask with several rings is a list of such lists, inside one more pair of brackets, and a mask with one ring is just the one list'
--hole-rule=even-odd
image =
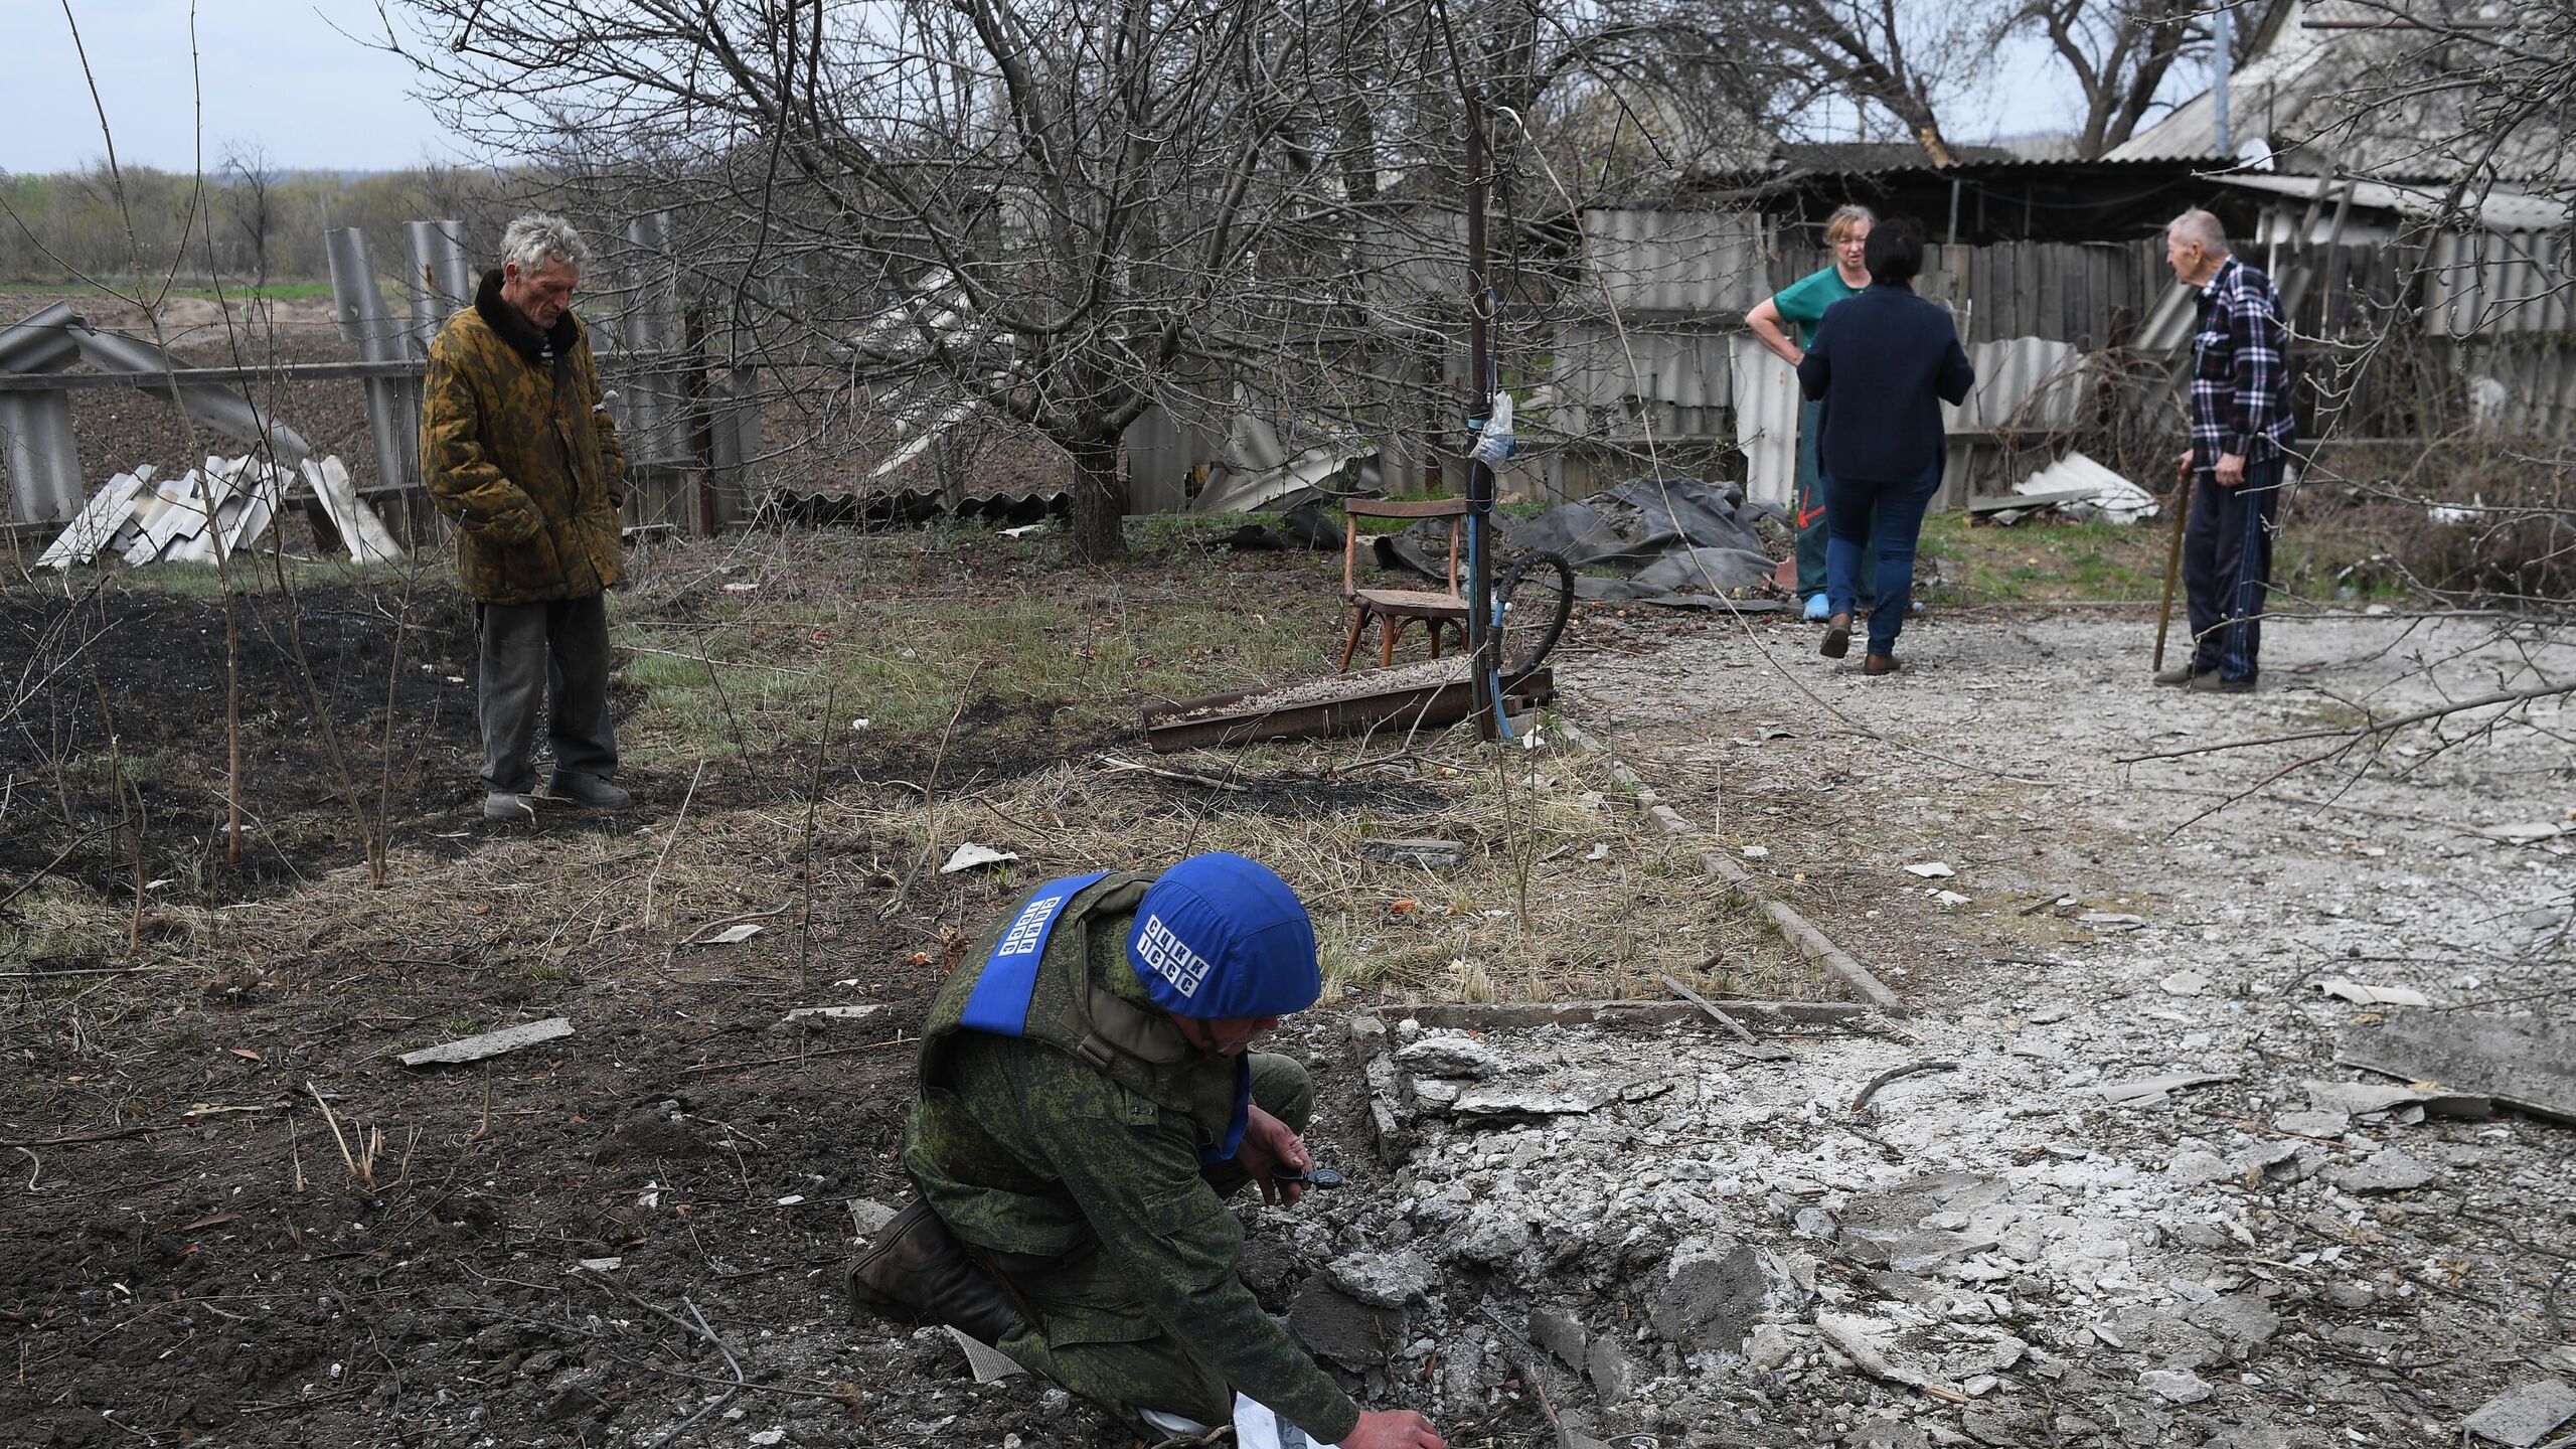
{"label": "woman in dark blue jacket and jeans, back to camera", "polygon": [[1896,632],[1914,601],[1914,539],[1940,492],[1947,441],[1940,405],[1960,402],[1976,369],[1950,315],[1914,297],[1924,232],[1893,219],[1870,232],[1870,286],[1824,312],[1798,387],[1824,400],[1826,601],[1824,657],[1852,647],[1860,552],[1878,544],[1878,603],[1862,673],[1896,670]]}

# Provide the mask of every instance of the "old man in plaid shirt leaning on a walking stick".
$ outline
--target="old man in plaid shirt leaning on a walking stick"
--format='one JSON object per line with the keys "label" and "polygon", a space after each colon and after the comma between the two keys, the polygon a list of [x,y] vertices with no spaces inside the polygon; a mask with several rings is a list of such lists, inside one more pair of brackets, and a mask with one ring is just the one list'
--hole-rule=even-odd
{"label": "old man in plaid shirt leaning on a walking stick", "polygon": [[2182,590],[2192,657],[2156,683],[2254,688],[2262,603],[2272,588],[2272,529],[2290,459],[2290,330],[2272,278],[2228,255],[2226,227],[2184,211],[2164,229],[2174,276],[2200,289],[2192,327],[2192,518]]}

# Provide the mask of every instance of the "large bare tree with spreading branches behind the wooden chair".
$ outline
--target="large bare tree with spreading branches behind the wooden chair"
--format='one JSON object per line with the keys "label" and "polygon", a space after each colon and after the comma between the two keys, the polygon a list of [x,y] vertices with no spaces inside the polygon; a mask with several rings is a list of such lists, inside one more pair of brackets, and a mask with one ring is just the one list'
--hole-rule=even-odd
{"label": "large bare tree with spreading branches behind the wooden chair", "polygon": [[1332,410],[1314,358],[1409,227],[1378,173],[1437,62],[1334,0],[412,10],[461,129],[659,191],[773,361],[1064,449],[1084,559],[1121,552],[1121,433],[1154,402]]}

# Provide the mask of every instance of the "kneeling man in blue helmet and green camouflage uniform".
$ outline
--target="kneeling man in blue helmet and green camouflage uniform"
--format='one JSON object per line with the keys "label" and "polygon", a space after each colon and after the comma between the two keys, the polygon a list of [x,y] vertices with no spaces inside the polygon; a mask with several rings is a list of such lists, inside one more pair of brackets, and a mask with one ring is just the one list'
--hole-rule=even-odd
{"label": "kneeling man in blue helmet and green camouflage uniform", "polygon": [[1154,1439],[1244,1395],[1319,1444],[1443,1449],[1360,1413],[1236,1276],[1226,1194],[1296,1201],[1306,1070],[1247,1052],[1314,1006],[1314,926],[1242,856],[1084,874],[1020,897],[922,1029],[904,1132],[920,1196],[850,1269],[853,1297],[999,1346]]}

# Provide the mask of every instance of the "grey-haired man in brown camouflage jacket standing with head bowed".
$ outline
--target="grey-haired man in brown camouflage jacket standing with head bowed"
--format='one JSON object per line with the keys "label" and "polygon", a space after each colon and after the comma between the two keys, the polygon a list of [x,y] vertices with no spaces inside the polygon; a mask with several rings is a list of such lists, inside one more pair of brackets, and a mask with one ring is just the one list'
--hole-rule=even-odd
{"label": "grey-haired man in brown camouflage jacket standing with head bowed", "polygon": [[608,606],[618,580],[626,451],[572,315],[590,248],[562,217],[520,217],[474,307],[438,330],[420,467],[456,518],[456,572],[477,603],[484,817],[533,820],[536,706],[549,706],[546,794],[623,807],[608,722]]}

